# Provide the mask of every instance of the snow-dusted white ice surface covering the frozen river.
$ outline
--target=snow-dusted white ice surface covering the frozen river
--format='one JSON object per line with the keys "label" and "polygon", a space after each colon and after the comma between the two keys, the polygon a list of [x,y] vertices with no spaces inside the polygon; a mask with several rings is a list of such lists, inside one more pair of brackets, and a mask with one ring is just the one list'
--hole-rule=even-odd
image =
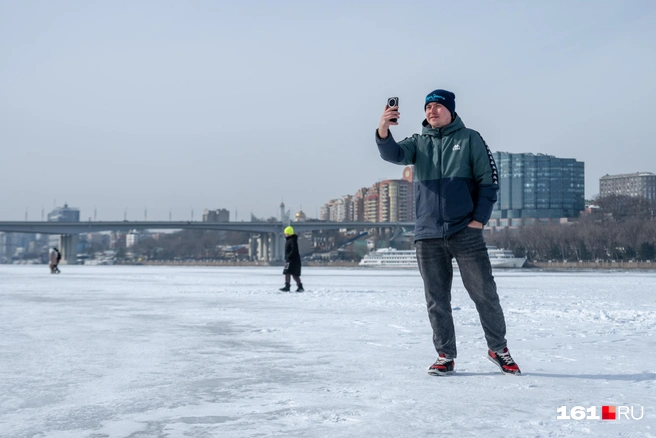
{"label": "snow-dusted white ice surface covering the frozen river", "polygon": [[[456,373],[416,270],[0,265],[0,436],[656,436],[656,273],[495,271],[524,375],[458,277]],[[641,420],[557,420],[634,407]]]}

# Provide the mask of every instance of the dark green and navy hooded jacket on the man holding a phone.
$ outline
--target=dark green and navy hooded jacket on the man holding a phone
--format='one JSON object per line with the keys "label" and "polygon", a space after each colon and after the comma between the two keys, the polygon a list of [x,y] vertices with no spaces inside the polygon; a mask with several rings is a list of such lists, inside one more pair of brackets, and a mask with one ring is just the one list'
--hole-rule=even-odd
{"label": "dark green and navy hooded jacket on the man holding a phone", "polygon": [[442,238],[471,220],[487,223],[499,190],[497,166],[481,135],[456,114],[444,128],[424,120],[421,134],[376,144],[385,161],[415,167],[415,241]]}

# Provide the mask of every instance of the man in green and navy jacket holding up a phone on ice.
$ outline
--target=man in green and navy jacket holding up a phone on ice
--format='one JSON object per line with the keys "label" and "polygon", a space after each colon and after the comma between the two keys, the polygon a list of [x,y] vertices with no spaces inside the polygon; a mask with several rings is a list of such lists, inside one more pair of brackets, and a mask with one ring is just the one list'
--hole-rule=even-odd
{"label": "man in green and navy jacket holding up a phone on ice", "polygon": [[389,127],[398,125],[398,106],[385,107],[376,131],[385,161],[415,166],[415,246],[438,354],[428,373],[451,374],[455,366],[451,313],[455,257],[485,332],[488,359],[506,374],[520,374],[508,351],[506,322],[483,239],[483,225],[490,219],[499,190],[497,167],[481,135],[465,128],[455,112],[455,97],[446,90],[426,96],[421,134],[394,140]]}

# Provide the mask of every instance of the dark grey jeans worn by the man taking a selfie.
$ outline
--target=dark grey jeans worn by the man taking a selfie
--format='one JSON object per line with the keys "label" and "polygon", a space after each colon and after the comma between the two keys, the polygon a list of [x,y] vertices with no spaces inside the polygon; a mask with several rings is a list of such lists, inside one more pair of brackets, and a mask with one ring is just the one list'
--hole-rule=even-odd
{"label": "dark grey jeans worn by the man taking a selfie", "polygon": [[469,297],[476,305],[488,348],[492,351],[503,350],[506,346],[506,321],[492,276],[483,231],[467,227],[443,239],[418,240],[415,246],[437,353],[444,353],[447,358],[457,356],[456,332],[451,314],[453,257],[458,262]]}

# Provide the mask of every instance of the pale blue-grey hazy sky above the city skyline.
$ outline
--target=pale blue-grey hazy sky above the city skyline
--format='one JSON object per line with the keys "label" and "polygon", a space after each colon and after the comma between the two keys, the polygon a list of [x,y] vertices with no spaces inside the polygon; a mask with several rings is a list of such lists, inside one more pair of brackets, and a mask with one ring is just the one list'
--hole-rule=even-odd
{"label": "pale blue-grey hazy sky above the city skyline", "polygon": [[656,172],[656,2],[0,0],[0,220],[309,216],[402,168],[424,96],[493,151]]}

